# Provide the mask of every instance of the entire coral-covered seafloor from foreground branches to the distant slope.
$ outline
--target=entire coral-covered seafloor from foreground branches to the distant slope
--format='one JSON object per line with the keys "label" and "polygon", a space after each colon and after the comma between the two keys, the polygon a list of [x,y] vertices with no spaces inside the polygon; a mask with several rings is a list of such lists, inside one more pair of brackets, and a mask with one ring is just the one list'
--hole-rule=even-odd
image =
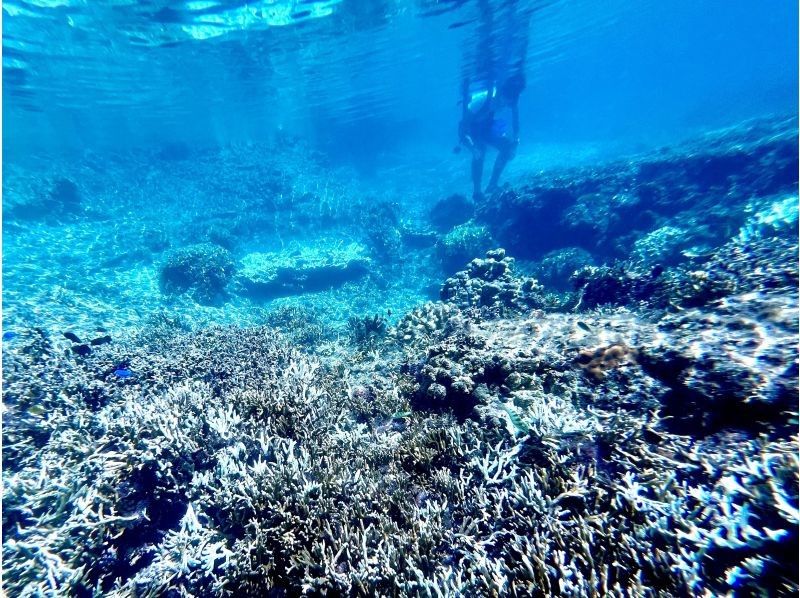
{"label": "entire coral-covered seafloor from foreground branches to the distant slope", "polygon": [[6,161],[4,592],[796,595],[797,172]]}

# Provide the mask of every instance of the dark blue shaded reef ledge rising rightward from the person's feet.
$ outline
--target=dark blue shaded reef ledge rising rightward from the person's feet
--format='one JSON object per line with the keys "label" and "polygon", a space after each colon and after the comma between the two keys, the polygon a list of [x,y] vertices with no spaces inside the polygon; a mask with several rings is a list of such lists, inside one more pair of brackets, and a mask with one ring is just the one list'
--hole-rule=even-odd
{"label": "dark blue shaded reef ledge rising rightward from the person's feet", "polygon": [[[682,244],[732,236],[752,198],[796,193],[796,135],[796,118],[762,119],[601,167],[528,176],[478,205],[475,219],[520,259],[577,244],[607,261],[638,244],[644,257],[677,260]],[[678,229],[684,235],[669,233]]]}

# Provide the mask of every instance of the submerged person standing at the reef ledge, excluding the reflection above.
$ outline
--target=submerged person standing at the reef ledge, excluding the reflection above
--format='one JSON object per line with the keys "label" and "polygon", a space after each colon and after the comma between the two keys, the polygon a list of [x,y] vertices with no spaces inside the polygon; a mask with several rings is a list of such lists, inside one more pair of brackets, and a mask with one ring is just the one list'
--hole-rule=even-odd
{"label": "submerged person standing at the reef ledge, excluding the reflection above", "polygon": [[498,181],[506,164],[514,157],[519,145],[519,96],[525,89],[525,77],[516,73],[500,86],[492,85],[470,93],[469,81],[464,81],[459,141],[472,152],[473,197],[483,197],[481,180],[486,148],[497,149],[492,176],[486,193],[498,190]]}

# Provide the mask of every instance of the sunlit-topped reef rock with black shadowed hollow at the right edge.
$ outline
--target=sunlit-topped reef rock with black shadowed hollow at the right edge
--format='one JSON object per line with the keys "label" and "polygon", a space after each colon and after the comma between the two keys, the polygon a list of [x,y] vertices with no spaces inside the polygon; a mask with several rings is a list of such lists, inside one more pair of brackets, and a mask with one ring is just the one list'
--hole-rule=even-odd
{"label": "sunlit-topped reef rock with black shadowed hollow at the right edge", "polygon": [[795,428],[781,414],[797,406],[797,313],[794,294],[745,294],[663,317],[639,362],[670,387],[671,425],[696,435]]}

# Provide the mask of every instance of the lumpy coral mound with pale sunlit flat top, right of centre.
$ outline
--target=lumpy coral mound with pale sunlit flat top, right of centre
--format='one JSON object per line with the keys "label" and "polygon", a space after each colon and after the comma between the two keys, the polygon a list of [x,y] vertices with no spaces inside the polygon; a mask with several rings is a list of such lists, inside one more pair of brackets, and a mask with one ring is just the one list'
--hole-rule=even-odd
{"label": "lumpy coral mound with pale sunlit flat top, right of centre", "polygon": [[[442,313],[433,306],[426,311]],[[577,315],[541,310],[493,319],[454,307],[444,314],[434,333],[403,327],[405,388],[416,408],[481,419],[486,406],[513,409],[534,395],[652,408],[667,392],[640,368],[623,369],[636,365],[637,343],[657,337],[652,325],[624,313],[591,327]],[[597,381],[607,382],[602,401],[593,396]]]}

